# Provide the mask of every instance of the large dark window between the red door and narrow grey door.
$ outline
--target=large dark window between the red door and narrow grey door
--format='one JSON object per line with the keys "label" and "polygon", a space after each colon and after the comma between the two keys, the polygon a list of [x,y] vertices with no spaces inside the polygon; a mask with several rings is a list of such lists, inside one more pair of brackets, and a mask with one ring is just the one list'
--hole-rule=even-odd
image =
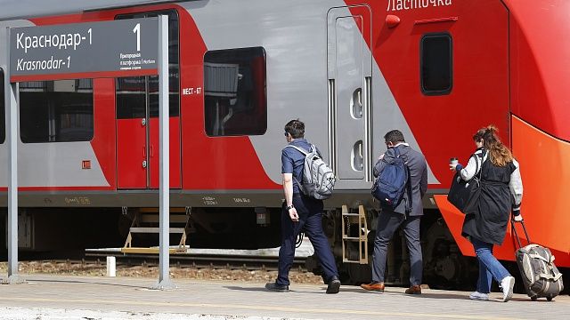
{"label": "large dark window between the red door and narrow grey door", "polygon": [[265,50],[216,50],[204,55],[208,136],[261,135],[267,130]]}

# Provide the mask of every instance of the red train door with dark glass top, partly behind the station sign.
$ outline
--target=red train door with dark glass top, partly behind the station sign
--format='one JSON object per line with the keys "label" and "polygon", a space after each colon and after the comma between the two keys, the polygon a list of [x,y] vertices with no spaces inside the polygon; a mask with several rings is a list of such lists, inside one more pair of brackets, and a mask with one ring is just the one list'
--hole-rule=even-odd
{"label": "red train door with dark glass top, partly behind the station sign", "polygon": [[[176,12],[146,12],[118,19],[167,14],[170,188],[181,188],[178,16]],[[159,188],[159,78],[128,76],[117,79],[118,188]]]}

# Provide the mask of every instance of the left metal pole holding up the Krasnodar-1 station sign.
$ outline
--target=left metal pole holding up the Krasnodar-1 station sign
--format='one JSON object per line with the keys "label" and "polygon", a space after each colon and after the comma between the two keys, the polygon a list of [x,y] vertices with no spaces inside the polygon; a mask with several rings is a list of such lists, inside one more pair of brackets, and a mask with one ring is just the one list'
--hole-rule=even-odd
{"label": "left metal pole holding up the Krasnodar-1 station sign", "polygon": [[6,28],[6,61],[4,70],[4,101],[8,141],[8,284],[22,282],[18,276],[18,101],[17,84],[10,82],[10,28]]}

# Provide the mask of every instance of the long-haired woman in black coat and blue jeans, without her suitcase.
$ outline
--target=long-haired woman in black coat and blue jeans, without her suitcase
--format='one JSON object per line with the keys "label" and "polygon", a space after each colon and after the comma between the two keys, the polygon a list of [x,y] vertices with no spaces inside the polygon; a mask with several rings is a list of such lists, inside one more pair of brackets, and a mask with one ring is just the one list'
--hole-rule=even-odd
{"label": "long-haired woman in black coat and blue jeans, without her suitcase", "polygon": [[473,244],[479,260],[479,278],[472,300],[488,300],[491,281],[494,278],[503,292],[502,301],[513,295],[515,278],[501,262],[493,256],[493,244],[502,244],[507,231],[509,215],[522,220],[520,204],[523,197],[523,183],[518,163],[497,136],[497,128],[489,125],[479,129],[473,136],[476,152],[468,164],[450,164],[450,169],[460,172],[463,180],[480,175],[480,187],[471,210],[466,212],[461,235]]}

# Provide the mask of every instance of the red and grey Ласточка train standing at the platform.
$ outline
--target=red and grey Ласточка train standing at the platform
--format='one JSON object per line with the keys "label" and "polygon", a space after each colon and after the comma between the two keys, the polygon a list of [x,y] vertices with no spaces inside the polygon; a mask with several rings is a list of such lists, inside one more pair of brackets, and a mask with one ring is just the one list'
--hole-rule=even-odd
{"label": "red and grey \u041b\u0430\u0441\u0442\u043e\u0447\u043a\u0430 train standing at the platform", "polygon": [[[488,124],[520,164],[531,240],[570,267],[566,12],[561,0],[20,0],[3,4],[0,26],[167,15],[170,212],[192,247],[280,245],[283,127],[298,118],[337,176],[322,222],[340,272],[367,281],[366,260],[345,260],[362,258],[362,244],[371,249],[379,215],[371,168],[386,150],[383,135],[402,131],[428,162],[426,282],[460,285],[473,277],[474,252],[446,200],[448,163],[465,163],[472,134]],[[3,50],[0,164],[7,66]],[[158,92],[157,76],[18,83],[21,254],[155,241],[129,230],[159,206]],[[5,208],[5,165],[0,186]],[[360,244],[346,244],[345,228],[357,229]],[[508,231],[495,252],[512,261],[514,245]],[[406,281],[406,255],[395,241],[390,282]]]}

